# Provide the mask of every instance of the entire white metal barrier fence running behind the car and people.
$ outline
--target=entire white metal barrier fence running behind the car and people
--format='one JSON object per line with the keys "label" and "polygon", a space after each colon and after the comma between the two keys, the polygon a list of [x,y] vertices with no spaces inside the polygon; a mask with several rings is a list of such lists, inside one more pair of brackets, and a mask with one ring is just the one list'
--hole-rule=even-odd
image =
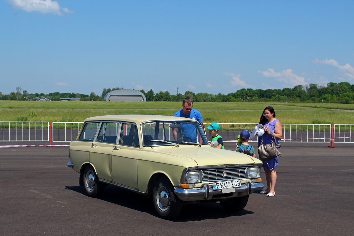
{"label": "entire white metal barrier fence running behind the car and people", "polygon": [[[50,125],[51,124],[51,125]],[[83,122],[0,122],[0,142],[49,141],[69,142],[76,139]],[[241,131],[252,130],[256,123],[219,123],[224,142],[237,142]],[[354,143],[354,125],[282,124],[280,142]],[[207,132],[207,139],[211,140]],[[250,140],[257,142],[257,140]]]}

